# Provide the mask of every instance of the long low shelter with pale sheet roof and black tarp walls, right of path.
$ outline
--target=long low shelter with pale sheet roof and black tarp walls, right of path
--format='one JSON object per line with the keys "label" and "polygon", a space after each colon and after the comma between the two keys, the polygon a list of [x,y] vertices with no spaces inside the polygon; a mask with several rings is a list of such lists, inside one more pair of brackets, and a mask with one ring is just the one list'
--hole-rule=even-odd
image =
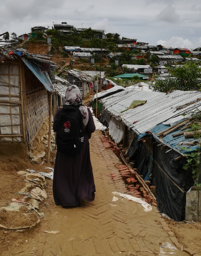
{"label": "long low shelter with pale sheet roof and black tarp walls, right of path", "polygon": [[[172,128],[184,122],[179,127],[185,131],[191,112],[201,110],[200,99],[201,93],[195,91],[166,94],[126,88],[99,100],[101,121],[109,127],[110,136],[127,148],[125,157],[138,174],[156,186],[160,212],[177,221],[185,219],[186,193],[194,185],[191,170],[183,169],[185,157],[180,145],[187,146],[190,153],[196,146],[189,144],[194,138],[186,139],[184,132],[177,135],[180,128]],[[187,114],[185,119],[183,114]]]}

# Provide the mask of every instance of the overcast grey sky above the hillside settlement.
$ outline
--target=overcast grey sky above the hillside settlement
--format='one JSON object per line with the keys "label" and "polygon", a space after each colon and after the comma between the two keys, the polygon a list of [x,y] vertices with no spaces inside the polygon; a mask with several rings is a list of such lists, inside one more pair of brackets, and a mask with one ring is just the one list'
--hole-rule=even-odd
{"label": "overcast grey sky above the hillside settlement", "polygon": [[0,0],[0,34],[66,21],[150,45],[201,47],[200,0]]}

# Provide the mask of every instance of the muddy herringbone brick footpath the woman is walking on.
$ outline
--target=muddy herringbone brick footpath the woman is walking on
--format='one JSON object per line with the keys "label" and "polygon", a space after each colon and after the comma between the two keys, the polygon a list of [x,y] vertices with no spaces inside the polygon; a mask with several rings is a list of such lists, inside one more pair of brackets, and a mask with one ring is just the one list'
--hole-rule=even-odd
{"label": "muddy herringbone brick footpath the woman is walking on", "polygon": [[80,208],[63,209],[54,204],[48,186],[48,199],[41,209],[45,216],[37,231],[18,233],[24,242],[16,242],[3,255],[190,255],[176,248],[177,239],[156,207],[150,210],[122,197],[127,190],[119,178],[117,165],[121,162],[105,148],[102,137],[101,131],[95,131],[90,140],[95,200],[83,201]]}

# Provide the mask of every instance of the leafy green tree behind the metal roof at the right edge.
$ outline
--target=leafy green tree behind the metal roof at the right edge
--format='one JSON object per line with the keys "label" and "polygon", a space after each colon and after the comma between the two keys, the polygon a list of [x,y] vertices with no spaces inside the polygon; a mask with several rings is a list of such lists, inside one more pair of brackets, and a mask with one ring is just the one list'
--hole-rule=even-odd
{"label": "leafy green tree behind the metal roof at the right edge", "polygon": [[171,76],[161,80],[160,77],[156,78],[155,83],[152,85],[154,91],[168,92],[173,89],[180,91],[198,91],[201,88],[200,79],[201,68],[198,63],[194,61],[187,61],[182,66],[176,66],[171,71]]}

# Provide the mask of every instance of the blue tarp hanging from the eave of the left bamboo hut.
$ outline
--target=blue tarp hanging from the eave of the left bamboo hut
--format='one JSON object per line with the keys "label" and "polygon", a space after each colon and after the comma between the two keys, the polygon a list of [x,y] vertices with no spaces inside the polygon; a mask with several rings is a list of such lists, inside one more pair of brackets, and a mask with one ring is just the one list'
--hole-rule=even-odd
{"label": "blue tarp hanging from the eave of the left bamboo hut", "polygon": [[36,62],[29,61],[28,59],[23,57],[21,59],[25,63],[25,65],[33,72],[33,74],[38,78],[38,80],[45,86],[45,89],[47,89],[48,92],[53,92],[53,85],[47,71],[44,71],[41,74],[41,66],[37,65]]}

